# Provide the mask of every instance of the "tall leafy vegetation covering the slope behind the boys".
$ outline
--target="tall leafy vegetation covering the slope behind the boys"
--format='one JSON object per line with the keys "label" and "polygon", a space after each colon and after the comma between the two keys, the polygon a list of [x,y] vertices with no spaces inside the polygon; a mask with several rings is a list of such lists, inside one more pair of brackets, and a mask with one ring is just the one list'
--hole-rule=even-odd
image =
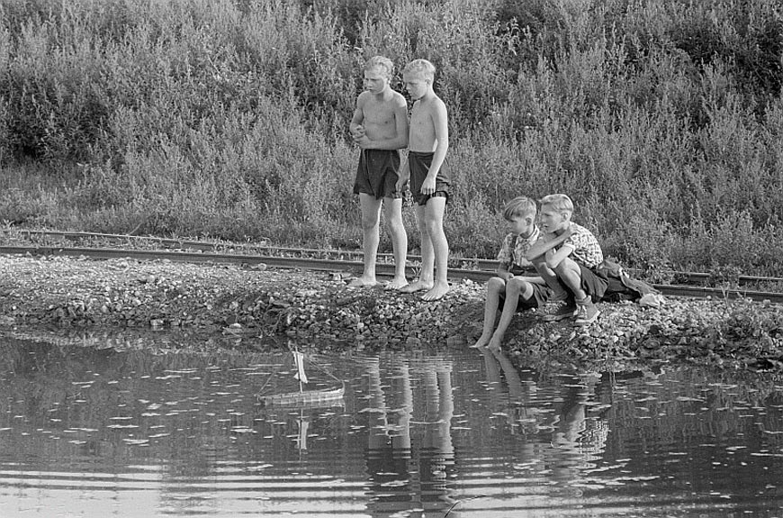
{"label": "tall leafy vegetation covering the slope behind the boys", "polygon": [[455,255],[565,192],[628,266],[783,275],[777,0],[0,0],[0,221],[358,244],[374,54],[437,66]]}

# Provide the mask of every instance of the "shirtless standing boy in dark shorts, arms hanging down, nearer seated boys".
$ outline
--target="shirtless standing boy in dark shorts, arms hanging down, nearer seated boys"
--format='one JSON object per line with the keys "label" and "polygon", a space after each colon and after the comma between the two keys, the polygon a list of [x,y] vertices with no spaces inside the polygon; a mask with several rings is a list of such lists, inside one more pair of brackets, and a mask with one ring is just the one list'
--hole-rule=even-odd
{"label": "shirtless standing boy in dark shorts, arms hanging down, nearer seated boys", "polygon": [[432,89],[435,67],[427,59],[411,61],[402,70],[402,80],[414,103],[410,114],[408,167],[403,165],[401,169],[398,188],[410,178],[421,237],[421,273],[416,282],[401,291],[425,291],[421,298],[437,300],[449,290],[448,241],[443,230],[450,183],[444,168],[448,150],[446,105]]}

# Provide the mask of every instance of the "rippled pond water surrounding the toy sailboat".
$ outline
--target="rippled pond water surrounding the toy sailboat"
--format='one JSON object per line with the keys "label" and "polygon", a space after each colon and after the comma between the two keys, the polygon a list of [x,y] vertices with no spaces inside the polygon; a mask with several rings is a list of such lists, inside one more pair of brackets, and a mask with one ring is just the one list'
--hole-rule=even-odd
{"label": "rippled pond water surrounding the toy sailboat", "polygon": [[[292,344],[288,344],[291,346]],[[547,371],[460,348],[307,356],[0,341],[0,516],[783,517],[783,381]]]}

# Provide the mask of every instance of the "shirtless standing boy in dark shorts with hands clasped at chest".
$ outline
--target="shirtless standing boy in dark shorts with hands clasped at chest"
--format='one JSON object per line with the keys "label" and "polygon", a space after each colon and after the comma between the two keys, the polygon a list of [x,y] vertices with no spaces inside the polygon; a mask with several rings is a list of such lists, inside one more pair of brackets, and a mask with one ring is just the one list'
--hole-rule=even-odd
{"label": "shirtless standing boy in dark shorts with hands clasped at chest", "polygon": [[408,104],[392,90],[392,60],[375,56],[365,63],[365,90],[356,98],[350,131],[361,148],[354,193],[362,207],[365,271],[350,286],[375,286],[375,260],[380,241],[381,206],[392,239],[394,278],[386,285],[399,289],[408,284],[405,261],[408,234],[402,224],[400,150],[408,145]]}

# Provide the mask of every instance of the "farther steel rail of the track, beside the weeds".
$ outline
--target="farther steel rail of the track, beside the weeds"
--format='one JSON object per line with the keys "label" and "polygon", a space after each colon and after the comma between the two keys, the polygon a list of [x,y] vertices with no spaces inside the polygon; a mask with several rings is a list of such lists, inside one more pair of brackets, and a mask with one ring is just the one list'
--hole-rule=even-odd
{"label": "farther steel rail of the track, beside the weeds", "polygon": [[[99,232],[65,232],[65,231],[43,231],[43,230],[4,230],[2,232],[18,232],[28,235],[40,235],[49,237],[59,237],[66,240],[78,240],[78,239],[102,239],[106,241],[151,241],[160,244],[161,246],[180,249],[193,249],[204,251],[215,251],[220,249],[228,250],[247,250],[250,251],[266,251],[272,253],[284,253],[290,254],[285,259],[293,259],[291,255],[311,255],[311,256],[326,256],[339,258],[344,257],[356,257],[361,258],[364,253],[361,250],[320,250],[320,249],[301,249],[293,247],[281,247],[272,245],[262,245],[253,243],[232,243],[224,241],[193,241],[176,238],[160,238],[155,236],[137,236],[130,234],[112,234],[112,233],[99,233]],[[272,258],[272,255],[264,255],[265,258]],[[392,259],[392,254],[378,253],[379,258]],[[415,255],[409,255],[408,258],[414,261],[420,261],[421,258]],[[328,259],[326,259],[328,260]],[[335,259],[340,260],[340,259]],[[471,259],[471,258],[455,258],[454,261],[459,261],[464,264],[472,264],[477,270],[495,270],[498,265],[498,261],[494,259]],[[304,268],[304,267],[302,267]],[[464,268],[466,271],[473,268]],[[636,268],[626,268],[626,270],[633,274],[639,274],[642,270]],[[661,270],[662,275],[672,278],[685,278],[689,283],[706,282],[714,276],[709,273],[701,272],[680,272],[675,270]],[[736,277],[736,281],[739,285],[748,284],[780,284],[783,285],[783,277],[757,277],[740,275]],[[668,286],[668,285],[665,285]],[[719,293],[722,293],[720,288],[716,288]]]}

